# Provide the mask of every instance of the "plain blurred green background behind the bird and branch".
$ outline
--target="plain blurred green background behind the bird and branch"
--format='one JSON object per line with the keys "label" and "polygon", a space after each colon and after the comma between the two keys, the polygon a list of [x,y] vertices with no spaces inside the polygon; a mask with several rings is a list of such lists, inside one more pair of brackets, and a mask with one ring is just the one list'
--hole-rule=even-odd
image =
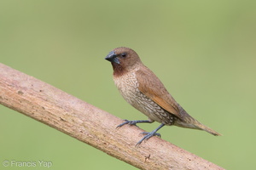
{"label": "plain blurred green background behind the bird and branch", "polygon": [[[224,135],[164,127],[162,139],[227,169],[253,169],[255,8],[251,0],[2,0],[0,62],[139,120],[146,117],[121,98],[104,59],[113,48],[133,48],[191,116]],[[0,169],[28,169],[3,167],[3,160],[51,161],[51,169],[136,169],[3,105],[0,112]]]}

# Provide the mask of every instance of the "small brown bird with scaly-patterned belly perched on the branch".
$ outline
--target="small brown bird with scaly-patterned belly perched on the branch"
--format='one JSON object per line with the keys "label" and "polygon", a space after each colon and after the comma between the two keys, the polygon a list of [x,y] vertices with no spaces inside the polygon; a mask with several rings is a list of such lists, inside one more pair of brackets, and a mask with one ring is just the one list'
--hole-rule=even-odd
{"label": "small brown bird with scaly-patterned belly perched on the branch", "polygon": [[143,139],[139,140],[136,145],[153,136],[160,137],[160,133],[157,131],[161,127],[172,125],[204,130],[214,136],[221,135],[189,116],[187,111],[168,93],[154,72],[143,65],[142,60],[133,49],[114,48],[105,59],[110,61],[113,66],[113,82],[119,89],[119,93],[126,102],[148,116],[148,120],[124,120],[125,122],[117,127],[122,127],[125,124],[137,126],[137,123],[160,122],[160,126],[152,132],[143,132]]}

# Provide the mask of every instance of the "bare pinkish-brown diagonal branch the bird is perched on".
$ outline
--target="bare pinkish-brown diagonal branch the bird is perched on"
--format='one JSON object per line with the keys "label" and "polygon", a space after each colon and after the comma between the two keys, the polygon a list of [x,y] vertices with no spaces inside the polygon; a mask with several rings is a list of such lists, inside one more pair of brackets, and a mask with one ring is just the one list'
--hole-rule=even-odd
{"label": "bare pinkish-brown diagonal branch the bird is perched on", "polygon": [[0,104],[43,122],[108,155],[141,169],[223,169],[186,150],[153,137],[135,147],[143,130],[116,129],[118,117],[0,64]]}

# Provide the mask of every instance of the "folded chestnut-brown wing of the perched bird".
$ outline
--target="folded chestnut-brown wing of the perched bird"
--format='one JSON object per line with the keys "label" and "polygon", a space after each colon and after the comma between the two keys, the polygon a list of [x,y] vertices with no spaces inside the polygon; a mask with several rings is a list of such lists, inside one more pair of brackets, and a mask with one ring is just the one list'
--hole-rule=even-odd
{"label": "folded chestnut-brown wing of the perched bird", "polygon": [[182,118],[177,108],[177,102],[152,71],[147,67],[143,67],[136,72],[136,76],[139,85],[138,88],[143,94],[172,115]]}

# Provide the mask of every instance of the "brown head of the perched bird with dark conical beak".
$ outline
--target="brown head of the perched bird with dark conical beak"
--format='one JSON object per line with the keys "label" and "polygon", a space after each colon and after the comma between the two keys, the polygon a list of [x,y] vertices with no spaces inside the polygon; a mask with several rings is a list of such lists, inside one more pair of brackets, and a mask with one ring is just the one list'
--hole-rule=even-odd
{"label": "brown head of the perched bird with dark conical beak", "polygon": [[131,48],[114,48],[105,58],[113,66],[113,75],[121,76],[125,72],[134,70],[137,66],[142,65],[142,61],[135,51]]}

